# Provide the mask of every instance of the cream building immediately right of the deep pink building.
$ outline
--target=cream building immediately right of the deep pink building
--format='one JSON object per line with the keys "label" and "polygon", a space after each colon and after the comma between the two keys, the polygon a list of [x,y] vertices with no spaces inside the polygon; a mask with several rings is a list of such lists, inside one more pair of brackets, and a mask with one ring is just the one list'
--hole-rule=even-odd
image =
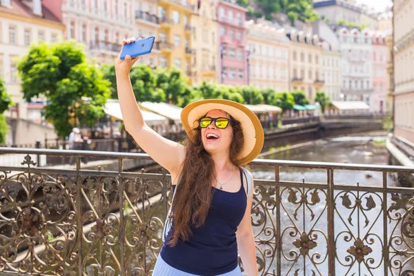
{"label": "cream building immediately right of the deep pink building", "polygon": [[248,83],[257,88],[289,90],[289,39],[270,21],[245,24],[248,39]]}

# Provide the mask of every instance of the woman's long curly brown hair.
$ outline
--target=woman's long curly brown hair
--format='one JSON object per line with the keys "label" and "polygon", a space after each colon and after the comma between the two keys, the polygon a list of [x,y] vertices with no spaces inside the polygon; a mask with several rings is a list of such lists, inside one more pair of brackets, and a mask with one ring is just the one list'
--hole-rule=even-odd
{"label": "woman's long curly brown hair", "polygon": [[[236,163],[236,157],[242,151],[244,135],[242,125],[230,116],[233,127],[233,141],[230,144],[230,161]],[[199,228],[210,210],[214,189],[211,184],[215,180],[215,163],[204,149],[201,141],[201,128],[193,128],[193,140],[186,137],[186,157],[181,164],[181,180],[176,186],[172,209],[174,210],[174,233],[168,245],[175,246],[178,239],[187,242],[193,237],[191,226]]]}

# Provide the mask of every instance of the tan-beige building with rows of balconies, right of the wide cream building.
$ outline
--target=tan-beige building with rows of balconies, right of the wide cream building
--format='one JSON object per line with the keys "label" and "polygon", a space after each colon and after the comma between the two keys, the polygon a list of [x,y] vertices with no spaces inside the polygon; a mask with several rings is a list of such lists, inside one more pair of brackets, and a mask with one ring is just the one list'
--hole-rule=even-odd
{"label": "tan-beige building with rows of balconies, right of the wide cream building", "polygon": [[322,47],[319,37],[296,30],[288,33],[290,39],[290,90],[302,90],[313,102],[317,91],[324,90],[321,62]]}

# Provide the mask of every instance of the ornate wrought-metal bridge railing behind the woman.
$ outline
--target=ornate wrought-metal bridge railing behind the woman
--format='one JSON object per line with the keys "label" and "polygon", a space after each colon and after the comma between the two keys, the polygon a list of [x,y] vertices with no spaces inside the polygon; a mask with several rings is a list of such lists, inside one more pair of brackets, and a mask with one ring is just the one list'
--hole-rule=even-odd
{"label": "ornate wrought-metal bridge railing behind the woman", "polygon": [[[0,148],[0,274],[151,275],[171,197],[166,173],[124,172],[119,152]],[[76,168],[37,168],[71,155]],[[83,170],[81,157],[118,160]],[[414,168],[257,159],[252,225],[260,275],[411,275]],[[168,200],[167,200],[168,199]],[[120,211],[121,210],[121,211]]]}

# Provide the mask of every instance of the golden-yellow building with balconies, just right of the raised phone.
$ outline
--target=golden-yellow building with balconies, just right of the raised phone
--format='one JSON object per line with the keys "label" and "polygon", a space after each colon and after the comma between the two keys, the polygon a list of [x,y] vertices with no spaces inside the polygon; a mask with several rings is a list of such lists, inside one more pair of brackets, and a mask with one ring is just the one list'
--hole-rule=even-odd
{"label": "golden-yellow building with balconies, just right of the raised phone", "polygon": [[159,17],[159,66],[175,67],[190,75],[190,61],[193,49],[190,36],[193,27],[190,19],[195,11],[195,4],[190,0],[160,0]]}

